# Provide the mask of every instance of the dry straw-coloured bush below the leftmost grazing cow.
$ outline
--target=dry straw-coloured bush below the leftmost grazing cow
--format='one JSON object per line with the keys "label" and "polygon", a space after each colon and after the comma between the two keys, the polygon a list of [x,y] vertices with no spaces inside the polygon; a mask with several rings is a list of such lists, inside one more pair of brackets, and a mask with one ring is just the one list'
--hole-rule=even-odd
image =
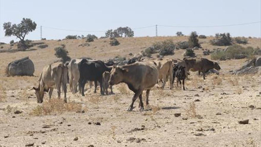
{"label": "dry straw-coloured bush below the leftmost grazing cow", "polygon": [[31,115],[49,115],[53,113],[62,113],[66,111],[79,111],[82,105],[77,102],[64,103],[63,99],[51,99],[50,101],[43,102],[42,105],[36,106],[31,112]]}

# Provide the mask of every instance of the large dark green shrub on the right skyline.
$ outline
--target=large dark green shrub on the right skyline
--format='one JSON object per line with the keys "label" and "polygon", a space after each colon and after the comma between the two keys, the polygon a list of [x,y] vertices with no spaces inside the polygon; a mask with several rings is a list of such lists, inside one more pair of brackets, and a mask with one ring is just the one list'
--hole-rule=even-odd
{"label": "large dark green shrub on the right skyline", "polygon": [[217,33],[215,39],[210,40],[210,43],[212,45],[217,45],[217,46],[226,46],[226,45],[231,45],[232,40],[229,33],[227,34]]}

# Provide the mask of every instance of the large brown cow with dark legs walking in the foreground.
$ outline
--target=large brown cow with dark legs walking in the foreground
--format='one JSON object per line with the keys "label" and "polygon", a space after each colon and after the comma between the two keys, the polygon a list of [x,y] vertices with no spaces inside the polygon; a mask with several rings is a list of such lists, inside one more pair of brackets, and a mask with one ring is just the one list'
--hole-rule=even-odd
{"label": "large brown cow with dark legs walking in the foreground", "polygon": [[139,97],[139,108],[144,109],[142,92],[146,90],[146,105],[149,105],[149,91],[157,83],[159,73],[155,62],[136,62],[129,65],[113,66],[109,79],[110,85],[126,83],[134,92],[128,111],[132,111],[135,100]]}

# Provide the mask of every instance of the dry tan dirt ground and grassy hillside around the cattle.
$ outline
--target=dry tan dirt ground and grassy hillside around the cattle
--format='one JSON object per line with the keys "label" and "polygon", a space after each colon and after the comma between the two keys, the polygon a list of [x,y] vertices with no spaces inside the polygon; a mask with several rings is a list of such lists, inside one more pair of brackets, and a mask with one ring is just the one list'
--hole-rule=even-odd
{"label": "dry tan dirt ground and grassy hillside around the cattle", "polygon": [[[122,39],[122,46],[104,51],[108,56],[101,55],[101,58],[108,59],[117,54],[127,57],[130,52],[139,53],[144,50],[141,47],[166,38],[152,37],[149,43],[143,42],[149,40],[146,37]],[[250,45],[256,47],[260,44],[258,40],[250,40]],[[76,41],[66,46],[72,46]],[[203,48],[213,49],[207,42],[203,43]],[[104,41],[99,40],[95,46],[100,43]],[[118,53],[118,50],[128,45],[136,49]],[[235,76],[229,73],[241,67],[246,59],[220,61],[220,75],[207,75],[206,80],[198,76],[197,72],[191,72],[189,80],[185,81],[185,91],[180,86],[169,90],[167,84],[162,90],[156,85],[145,110],[139,110],[137,100],[134,104],[136,108],[128,112],[133,92],[123,83],[113,86],[114,94],[105,96],[100,96],[99,89],[94,94],[94,88],[88,85],[85,97],[71,94],[68,88],[68,104],[57,99],[57,91],[54,90],[50,102],[45,94],[44,103],[37,104],[34,91],[27,89],[36,84],[42,67],[55,59],[53,46],[49,44],[47,52],[44,52],[45,49],[37,49],[0,54],[0,147],[20,147],[32,143],[33,146],[42,147],[261,146],[261,75]],[[100,50],[97,47],[83,52],[97,59],[99,54],[94,52],[95,49]],[[74,58],[81,56],[72,48],[68,50]],[[183,52],[175,51],[169,58],[182,59]],[[196,54],[201,56],[202,51],[196,51]],[[36,76],[4,76],[6,64],[25,55],[33,60]],[[248,124],[239,124],[238,121],[246,119],[249,119]]]}

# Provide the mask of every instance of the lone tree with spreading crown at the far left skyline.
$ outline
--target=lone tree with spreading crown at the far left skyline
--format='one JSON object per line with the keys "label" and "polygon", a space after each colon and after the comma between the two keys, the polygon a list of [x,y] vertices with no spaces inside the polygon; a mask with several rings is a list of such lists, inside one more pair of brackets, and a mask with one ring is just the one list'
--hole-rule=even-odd
{"label": "lone tree with spreading crown at the far left skyline", "polygon": [[36,29],[36,23],[33,22],[30,18],[23,18],[21,23],[13,24],[11,22],[4,23],[3,25],[5,35],[4,36],[16,36],[20,39],[20,42],[25,48],[28,46],[25,42],[25,36]]}

